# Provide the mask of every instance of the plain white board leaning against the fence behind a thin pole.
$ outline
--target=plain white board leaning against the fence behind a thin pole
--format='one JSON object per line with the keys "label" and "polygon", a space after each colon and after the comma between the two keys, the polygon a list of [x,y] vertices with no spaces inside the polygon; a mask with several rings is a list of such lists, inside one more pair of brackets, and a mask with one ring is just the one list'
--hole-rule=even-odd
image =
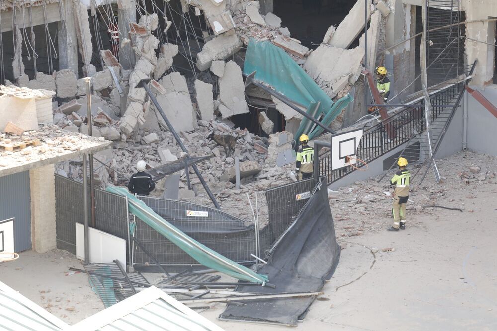
{"label": "plain white board leaning against the fence behind a thin pole", "polygon": [[[90,263],[119,260],[126,266],[126,240],[106,232],[89,228]],[[84,260],[84,225],[76,223],[76,257]]]}

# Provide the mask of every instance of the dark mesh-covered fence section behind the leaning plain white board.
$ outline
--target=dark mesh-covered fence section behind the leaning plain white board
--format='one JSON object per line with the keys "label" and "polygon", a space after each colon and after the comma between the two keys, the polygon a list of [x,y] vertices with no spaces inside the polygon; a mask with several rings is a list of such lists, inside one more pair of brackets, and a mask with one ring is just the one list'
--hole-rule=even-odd
{"label": "dark mesh-covered fence section behind the leaning plain white board", "polygon": [[[84,224],[83,184],[55,175],[55,198],[57,248],[76,254],[75,224]],[[90,210],[88,215],[91,215]],[[96,229],[126,240],[129,247],[128,207],[125,197],[96,189],[95,223]],[[128,252],[126,255],[129,260]]]}

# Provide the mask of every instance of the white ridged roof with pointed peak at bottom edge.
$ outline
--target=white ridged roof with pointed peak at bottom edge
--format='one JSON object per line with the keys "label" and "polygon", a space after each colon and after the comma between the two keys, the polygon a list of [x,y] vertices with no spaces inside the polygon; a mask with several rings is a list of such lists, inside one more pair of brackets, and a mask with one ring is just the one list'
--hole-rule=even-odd
{"label": "white ridged roof with pointed peak at bottom edge", "polygon": [[156,287],[149,287],[96,313],[73,328],[101,331],[223,330]]}

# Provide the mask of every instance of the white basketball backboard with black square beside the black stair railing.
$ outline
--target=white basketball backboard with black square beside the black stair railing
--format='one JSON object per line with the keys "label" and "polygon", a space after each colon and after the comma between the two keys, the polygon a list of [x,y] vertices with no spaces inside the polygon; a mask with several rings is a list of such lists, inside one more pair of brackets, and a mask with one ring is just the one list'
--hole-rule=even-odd
{"label": "white basketball backboard with black square beside the black stair railing", "polygon": [[[356,157],[357,147],[363,134],[362,129],[343,132],[331,136],[331,169],[336,170],[349,165],[345,161],[347,156]],[[351,160],[350,164],[355,164],[356,160]]]}

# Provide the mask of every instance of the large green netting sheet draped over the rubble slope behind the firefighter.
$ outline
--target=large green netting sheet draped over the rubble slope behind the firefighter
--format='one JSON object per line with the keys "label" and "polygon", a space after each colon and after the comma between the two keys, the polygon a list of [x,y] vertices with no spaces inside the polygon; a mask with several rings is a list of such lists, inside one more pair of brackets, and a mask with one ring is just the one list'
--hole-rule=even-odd
{"label": "large green netting sheet draped over the rubble slope behind the firefighter", "polygon": [[[353,100],[352,96],[347,94],[334,103],[314,79],[283,49],[268,41],[257,42],[251,39],[248,42],[244,73],[249,75],[254,71],[256,72],[255,79],[272,86],[275,91],[289,99],[306,105],[308,107],[307,113],[313,115],[315,119],[321,118],[321,123],[325,126],[330,125]],[[318,101],[321,102],[319,109],[315,114],[312,114]],[[314,124],[310,125],[309,120],[304,118],[295,136],[308,133],[312,139],[323,131],[319,127],[313,130],[314,126]]]}

